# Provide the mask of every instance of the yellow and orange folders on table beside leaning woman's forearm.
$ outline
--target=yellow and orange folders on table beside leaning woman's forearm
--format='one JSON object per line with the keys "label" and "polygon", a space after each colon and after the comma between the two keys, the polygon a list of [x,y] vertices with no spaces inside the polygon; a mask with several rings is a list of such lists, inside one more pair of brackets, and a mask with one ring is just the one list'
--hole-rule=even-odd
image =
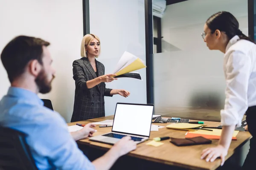
{"label": "yellow and orange folders on table beside leaning woman's forearm", "polygon": [[[188,132],[186,133],[186,138],[193,138],[197,136],[203,136],[204,138],[207,139],[220,139],[221,138],[221,130],[222,129],[211,129],[212,131],[207,131],[207,130],[197,130],[193,132]],[[233,133],[232,140],[236,140],[236,136],[239,133],[238,130],[235,130]]]}

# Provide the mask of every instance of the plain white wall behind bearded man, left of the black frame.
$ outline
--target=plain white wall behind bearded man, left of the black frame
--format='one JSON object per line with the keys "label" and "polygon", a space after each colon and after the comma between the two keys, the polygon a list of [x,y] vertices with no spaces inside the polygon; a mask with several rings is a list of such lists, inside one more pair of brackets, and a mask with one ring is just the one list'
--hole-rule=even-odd
{"label": "plain white wall behind bearded man, left of the black frame", "polygon": [[[0,33],[0,51],[21,34],[51,43],[49,50],[57,71],[56,78],[52,91],[39,96],[51,99],[54,110],[70,122],[75,93],[72,62],[80,58],[83,37],[82,0],[1,0]],[[2,98],[10,85],[2,63],[0,80]]]}

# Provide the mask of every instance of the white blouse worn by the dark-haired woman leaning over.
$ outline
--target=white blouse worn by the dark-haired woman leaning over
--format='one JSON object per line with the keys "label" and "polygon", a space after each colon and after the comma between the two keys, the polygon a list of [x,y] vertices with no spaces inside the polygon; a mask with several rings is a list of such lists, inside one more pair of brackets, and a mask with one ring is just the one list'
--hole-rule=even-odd
{"label": "white blouse worn by the dark-haired woman leaning over", "polygon": [[256,105],[256,44],[236,35],[224,55],[226,99],[221,125],[241,126],[247,108]]}

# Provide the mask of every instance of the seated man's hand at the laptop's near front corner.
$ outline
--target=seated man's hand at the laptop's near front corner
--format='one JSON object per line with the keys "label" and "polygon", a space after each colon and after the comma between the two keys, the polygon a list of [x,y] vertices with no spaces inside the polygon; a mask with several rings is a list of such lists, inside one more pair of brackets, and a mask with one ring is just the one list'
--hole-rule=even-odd
{"label": "seated man's hand at the laptop's near front corner", "polygon": [[121,140],[116,142],[116,144],[114,144],[114,146],[112,148],[116,152],[118,152],[118,156],[120,157],[120,156],[123,156],[123,155],[129,153],[132,150],[135,150],[136,147],[137,147],[137,145],[133,140],[131,140],[131,137],[125,136]]}

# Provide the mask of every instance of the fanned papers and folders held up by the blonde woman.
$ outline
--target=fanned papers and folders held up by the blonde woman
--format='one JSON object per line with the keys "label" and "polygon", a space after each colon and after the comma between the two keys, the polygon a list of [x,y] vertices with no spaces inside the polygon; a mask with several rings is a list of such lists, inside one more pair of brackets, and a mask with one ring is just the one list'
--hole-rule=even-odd
{"label": "fanned papers and folders held up by the blonde woman", "polygon": [[146,66],[143,60],[125,51],[121,59],[117,63],[116,69],[113,71],[113,74],[116,74],[116,77],[130,77],[134,79],[141,79],[139,73],[134,73],[131,71],[136,71],[145,67]]}

